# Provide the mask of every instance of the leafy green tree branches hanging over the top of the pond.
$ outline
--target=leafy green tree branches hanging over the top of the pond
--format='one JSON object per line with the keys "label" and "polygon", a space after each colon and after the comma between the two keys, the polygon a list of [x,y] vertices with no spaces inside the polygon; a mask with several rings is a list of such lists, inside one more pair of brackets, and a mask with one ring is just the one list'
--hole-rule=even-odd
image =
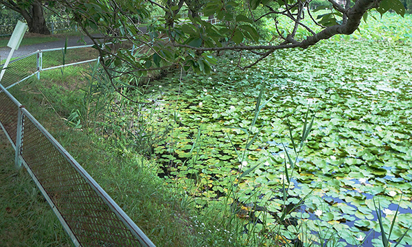
{"label": "leafy green tree branches hanging over the top of the pond", "polygon": [[[239,51],[240,56],[254,54],[254,62],[244,65],[252,67],[278,49],[305,49],[336,34],[350,35],[363,19],[367,20],[371,10],[380,14],[393,10],[402,16],[405,12],[399,0],[345,0],[344,4],[328,0],[328,4],[319,5],[315,10],[308,8],[310,2],[207,0],[202,2],[201,11],[204,16],[216,17],[218,23],[213,24],[198,14],[183,18],[184,5],[194,12],[194,8],[201,5],[200,0],[89,0],[64,4],[94,41],[102,64],[112,78],[146,75],[147,71],[178,65],[185,70],[192,68],[198,73],[209,73],[216,61],[214,52],[225,50]],[[152,16],[155,9],[160,10],[162,16]],[[315,16],[314,12],[318,11],[321,14]],[[268,16],[275,19],[277,34],[271,40],[263,40],[255,23]],[[280,18],[287,19],[288,23],[279,23]],[[307,21],[316,28],[307,25]],[[147,32],[143,32],[143,25]],[[299,29],[307,35],[297,35]],[[99,35],[89,30],[98,31]],[[102,46],[102,40],[115,45]],[[126,43],[129,46],[125,46]],[[130,44],[139,52],[130,51]]]}

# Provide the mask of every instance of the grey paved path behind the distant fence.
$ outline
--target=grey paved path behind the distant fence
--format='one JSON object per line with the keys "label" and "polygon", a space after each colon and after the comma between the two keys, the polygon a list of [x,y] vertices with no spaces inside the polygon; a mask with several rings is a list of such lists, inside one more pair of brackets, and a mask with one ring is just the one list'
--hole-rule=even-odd
{"label": "grey paved path behind the distant fence", "polygon": [[[93,44],[89,37],[84,37],[83,39],[84,39],[84,42],[86,42],[86,44],[80,41],[79,36],[69,36],[67,38],[67,47]],[[26,54],[31,54],[32,52],[37,51],[38,49],[52,49],[52,48],[65,47],[65,42],[66,42],[66,38],[60,38],[60,40],[48,42],[48,43],[41,43],[41,44],[36,44],[36,45],[24,45],[24,46],[19,47],[19,49],[17,49],[16,51],[14,51],[12,58],[21,57]],[[0,48],[0,59],[3,60],[7,58],[9,53],[10,53],[9,47],[1,47]]]}

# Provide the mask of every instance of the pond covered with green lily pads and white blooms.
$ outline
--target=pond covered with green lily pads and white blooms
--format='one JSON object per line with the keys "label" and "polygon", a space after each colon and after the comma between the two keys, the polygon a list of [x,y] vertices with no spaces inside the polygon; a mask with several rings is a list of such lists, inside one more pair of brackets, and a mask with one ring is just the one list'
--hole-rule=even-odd
{"label": "pond covered with green lily pads and white blooms", "polygon": [[[244,233],[279,227],[290,241],[328,246],[381,246],[374,200],[388,233],[399,204],[396,241],[412,224],[411,54],[411,43],[325,42],[247,71],[228,54],[211,75],[165,78],[152,88],[157,128],[170,128],[155,147],[159,176],[198,207],[240,205]],[[286,208],[295,223],[279,226]],[[407,234],[400,246],[411,245]]]}

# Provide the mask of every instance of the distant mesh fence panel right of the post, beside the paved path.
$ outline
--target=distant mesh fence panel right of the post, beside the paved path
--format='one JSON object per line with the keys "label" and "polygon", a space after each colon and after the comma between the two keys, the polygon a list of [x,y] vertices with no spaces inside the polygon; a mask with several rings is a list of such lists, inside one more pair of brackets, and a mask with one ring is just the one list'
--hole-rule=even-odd
{"label": "distant mesh fence panel right of the post, beside the paved path", "polygon": [[72,64],[98,58],[98,50],[86,46],[71,48],[67,47],[66,51],[62,49],[52,49],[42,51],[42,69],[57,67],[63,64]]}

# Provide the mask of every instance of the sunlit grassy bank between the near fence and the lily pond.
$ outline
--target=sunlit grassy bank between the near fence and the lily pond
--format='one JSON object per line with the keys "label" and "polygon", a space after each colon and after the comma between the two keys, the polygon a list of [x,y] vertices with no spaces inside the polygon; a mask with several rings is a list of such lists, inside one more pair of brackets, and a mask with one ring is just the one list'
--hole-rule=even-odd
{"label": "sunlit grassy bank between the near fence and the lily pond", "polygon": [[[165,187],[157,176],[154,163],[133,152],[125,152],[119,145],[122,140],[67,127],[65,118],[73,108],[80,107],[83,97],[80,89],[84,89],[88,82],[86,71],[87,66],[66,68],[64,75],[59,70],[45,71],[40,82],[24,82],[12,88],[11,92],[157,246],[216,246],[214,242],[225,243],[225,239],[231,236],[216,231],[216,226],[222,222],[220,217],[216,213],[212,217],[199,214],[184,191]],[[0,152],[3,153],[2,150]],[[14,157],[12,152],[2,155],[8,155],[10,159]],[[12,163],[8,167],[13,171]],[[12,195],[5,198],[22,203],[20,198]],[[28,213],[36,217],[33,211],[28,210]],[[16,231],[16,234],[21,232]],[[13,246],[15,239],[4,241]],[[47,235],[44,239],[37,239],[45,243],[39,246],[46,246],[46,243],[54,246]]]}

